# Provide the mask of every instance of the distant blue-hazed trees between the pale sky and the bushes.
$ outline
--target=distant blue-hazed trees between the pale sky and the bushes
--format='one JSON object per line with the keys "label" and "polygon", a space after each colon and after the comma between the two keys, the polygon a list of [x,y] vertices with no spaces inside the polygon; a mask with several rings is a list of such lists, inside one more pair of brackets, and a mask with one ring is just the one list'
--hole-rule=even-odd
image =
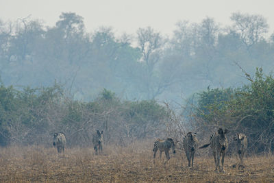
{"label": "distant blue-hazed trees between the pale sky and the bushes", "polygon": [[73,12],[63,12],[53,27],[29,17],[0,18],[1,82],[18,90],[57,82],[84,101],[103,88],[121,99],[179,102],[208,86],[236,88],[256,67],[273,71],[274,34],[258,14],[236,12],[230,19],[231,26],[210,17],[179,21],[171,37],[153,27],[118,37],[112,27],[86,30],[84,17]]}

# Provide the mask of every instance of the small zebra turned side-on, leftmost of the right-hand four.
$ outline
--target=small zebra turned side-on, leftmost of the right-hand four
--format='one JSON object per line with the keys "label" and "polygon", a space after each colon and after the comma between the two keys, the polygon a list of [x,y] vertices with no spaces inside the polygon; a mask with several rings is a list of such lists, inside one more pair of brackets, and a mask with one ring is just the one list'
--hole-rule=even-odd
{"label": "small zebra turned side-on, leftmost of the right-hand four", "polygon": [[176,143],[173,141],[172,138],[166,138],[165,140],[161,140],[158,138],[154,141],[154,147],[153,147],[153,158],[155,158],[156,153],[159,149],[160,151],[160,159],[162,158],[162,152],[166,154],[166,159],[169,160],[171,157],[169,156],[169,150],[172,149],[173,154],[176,153],[175,151]]}

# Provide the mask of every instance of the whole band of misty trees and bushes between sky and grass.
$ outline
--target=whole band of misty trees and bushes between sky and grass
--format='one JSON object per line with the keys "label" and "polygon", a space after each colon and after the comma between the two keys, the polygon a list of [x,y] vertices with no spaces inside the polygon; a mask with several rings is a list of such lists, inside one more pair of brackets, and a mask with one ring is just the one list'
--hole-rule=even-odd
{"label": "whole band of misty trees and bushes between sky and grass", "polygon": [[254,152],[273,150],[274,34],[260,15],[230,19],[179,21],[171,37],[152,27],[88,32],[71,12],[53,27],[0,21],[0,145],[50,145],[54,132],[90,145],[98,129],[119,145],[180,141],[187,130],[207,141],[227,127],[245,132]]}

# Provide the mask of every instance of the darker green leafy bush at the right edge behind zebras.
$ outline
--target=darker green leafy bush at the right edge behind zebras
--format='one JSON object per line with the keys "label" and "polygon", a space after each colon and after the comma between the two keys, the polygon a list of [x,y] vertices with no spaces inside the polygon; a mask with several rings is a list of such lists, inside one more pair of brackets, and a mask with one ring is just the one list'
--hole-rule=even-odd
{"label": "darker green leafy bush at the right edge behind zebras", "polygon": [[260,68],[249,85],[200,93],[197,115],[206,123],[248,134],[253,151],[273,151],[273,91],[274,78]]}

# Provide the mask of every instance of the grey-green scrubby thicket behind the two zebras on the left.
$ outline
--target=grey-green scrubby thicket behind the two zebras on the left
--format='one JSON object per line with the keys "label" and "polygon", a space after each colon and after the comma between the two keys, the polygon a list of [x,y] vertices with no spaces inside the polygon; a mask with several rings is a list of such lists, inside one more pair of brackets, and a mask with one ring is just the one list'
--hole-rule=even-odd
{"label": "grey-green scrubby thicket behind the two zebras on the left", "polygon": [[69,145],[91,146],[103,130],[105,143],[127,145],[164,134],[167,112],[156,101],[123,101],[103,89],[95,101],[66,97],[58,84],[47,88],[0,87],[0,145],[51,145],[64,132]]}

